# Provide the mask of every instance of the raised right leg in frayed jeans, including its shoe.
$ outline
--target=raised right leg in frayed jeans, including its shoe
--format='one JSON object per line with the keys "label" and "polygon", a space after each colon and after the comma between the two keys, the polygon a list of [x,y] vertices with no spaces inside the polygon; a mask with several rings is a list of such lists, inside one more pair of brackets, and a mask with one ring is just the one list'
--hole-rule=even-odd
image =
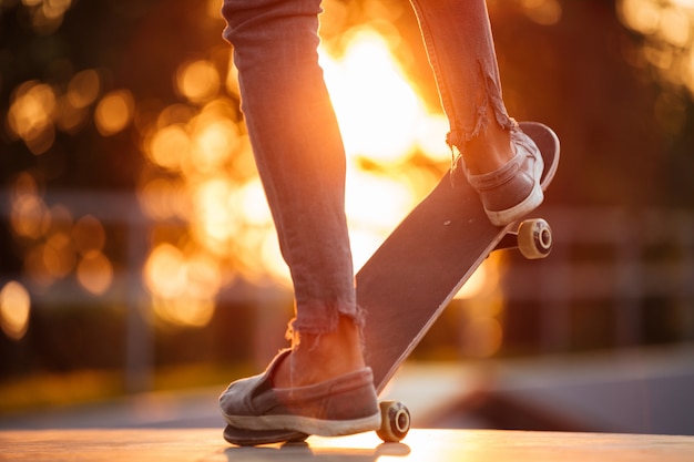
{"label": "raised right leg in frayed jeans, including its shoe", "polygon": [[496,225],[542,202],[542,158],[509,117],[484,0],[411,0],[443,110],[448,143],[463,160]]}

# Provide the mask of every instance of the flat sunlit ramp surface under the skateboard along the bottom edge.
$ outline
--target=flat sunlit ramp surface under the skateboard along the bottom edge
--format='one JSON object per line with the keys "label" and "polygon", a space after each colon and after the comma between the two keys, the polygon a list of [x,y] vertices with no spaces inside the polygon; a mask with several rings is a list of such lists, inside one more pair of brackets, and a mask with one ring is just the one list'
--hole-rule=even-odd
{"label": "flat sunlit ramp surface under the skateboard along the bottom edge", "polygon": [[384,444],[364,433],[238,448],[222,440],[221,429],[0,432],[0,461],[691,462],[693,456],[693,437],[609,433],[415,429],[402,443]]}

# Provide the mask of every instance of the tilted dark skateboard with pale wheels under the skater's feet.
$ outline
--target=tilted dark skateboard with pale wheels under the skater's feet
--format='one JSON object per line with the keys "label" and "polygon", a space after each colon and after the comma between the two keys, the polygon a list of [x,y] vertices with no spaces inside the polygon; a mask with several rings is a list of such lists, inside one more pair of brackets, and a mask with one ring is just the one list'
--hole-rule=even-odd
{"label": "tilted dark skateboard with pale wheels under the skater's feet", "polygon": [[[548,126],[521,122],[544,160],[542,189],[559,165],[559,138]],[[445,175],[374,253],[356,275],[357,301],[366,311],[365,359],[380,393],[417,347],[441,311],[474,270],[494,250],[518,248],[527,258],[543,258],[552,247],[552,232],[543,219],[508,226],[492,225],[479,195],[461,168]],[[400,441],[410,425],[407,407],[380,403],[384,441]],[[248,432],[227,427],[234,444],[302,441],[292,431]]]}

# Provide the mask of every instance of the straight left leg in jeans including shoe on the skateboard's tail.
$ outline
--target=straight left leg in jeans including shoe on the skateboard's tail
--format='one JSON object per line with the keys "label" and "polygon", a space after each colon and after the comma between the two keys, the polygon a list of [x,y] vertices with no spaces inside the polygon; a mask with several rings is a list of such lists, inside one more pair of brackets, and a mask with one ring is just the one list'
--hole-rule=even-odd
{"label": "straight left leg in jeans including shoe on the skateboard's tail", "polygon": [[[345,151],[318,65],[320,0],[225,0],[222,11],[227,21],[224,37],[234,45],[248,135],[296,302],[288,332],[290,353],[280,355],[271,367],[272,377],[254,379],[253,387],[298,389],[364,371],[364,317],[356,302],[344,204]],[[364,412],[370,412],[370,419],[378,412],[374,386],[359,380]],[[320,415],[310,409],[304,420],[293,415],[254,420],[255,411],[242,402],[248,399],[247,382],[232,384],[223,394],[229,424],[253,430],[278,424],[313,432],[312,419]],[[364,412],[338,412],[335,419],[356,413],[359,428],[358,414]],[[372,427],[374,420],[365,425]],[[351,431],[335,425],[335,432],[345,429]]]}

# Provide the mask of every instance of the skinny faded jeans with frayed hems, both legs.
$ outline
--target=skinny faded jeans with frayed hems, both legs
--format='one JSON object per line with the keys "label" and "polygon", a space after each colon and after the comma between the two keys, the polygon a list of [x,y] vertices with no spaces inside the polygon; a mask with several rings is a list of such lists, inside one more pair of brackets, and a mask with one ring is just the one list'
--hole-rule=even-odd
{"label": "skinny faded jeans with frayed hems, both legs", "polygon": [[[224,0],[242,110],[282,255],[296,318],[290,330],[320,335],[339,316],[364,322],[345,216],[345,150],[318,65],[322,0]],[[411,0],[458,150],[493,114],[513,125],[484,0]]]}

